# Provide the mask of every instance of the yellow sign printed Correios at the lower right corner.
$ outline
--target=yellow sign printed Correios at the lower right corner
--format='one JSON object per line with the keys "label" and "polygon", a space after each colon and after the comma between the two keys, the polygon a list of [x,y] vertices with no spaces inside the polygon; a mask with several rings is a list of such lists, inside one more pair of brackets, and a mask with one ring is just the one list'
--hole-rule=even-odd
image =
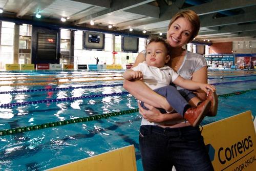
{"label": "yellow sign printed Correios at the lower right corner", "polygon": [[204,125],[202,135],[215,170],[256,170],[256,135],[250,111]]}

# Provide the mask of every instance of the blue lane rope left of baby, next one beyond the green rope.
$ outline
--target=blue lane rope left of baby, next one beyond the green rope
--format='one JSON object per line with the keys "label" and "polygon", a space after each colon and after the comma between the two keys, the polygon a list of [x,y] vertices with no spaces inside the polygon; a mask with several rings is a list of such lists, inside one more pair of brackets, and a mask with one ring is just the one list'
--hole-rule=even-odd
{"label": "blue lane rope left of baby, next one beyond the green rope", "polygon": [[129,94],[129,92],[110,93],[110,94],[95,94],[95,95],[80,96],[80,97],[24,101],[24,102],[17,102],[17,103],[5,103],[5,104],[1,104],[0,108],[12,108],[13,106],[24,106],[27,104],[39,104],[39,103],[52,103],[52,102],[58,102],[58,101],[74,101],[74,100],[78,100],[78,99],[88,99],[88,98],[96,98],[96,97],[121,96],[121,95],[125,95],[125,94]]}

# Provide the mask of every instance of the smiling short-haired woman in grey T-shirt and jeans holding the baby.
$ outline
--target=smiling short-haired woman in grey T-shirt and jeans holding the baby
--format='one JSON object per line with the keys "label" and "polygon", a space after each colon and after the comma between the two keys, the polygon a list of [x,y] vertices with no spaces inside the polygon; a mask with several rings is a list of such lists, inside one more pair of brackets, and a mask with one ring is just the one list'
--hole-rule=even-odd
{"label": "smiling short-haired woman in grey T-shirt and jeans holding the baby", "polygon": [[[167,32],[167,41],[172,47],[172,61],[168,65],[185,79],[207,83],[207,63],[204,57],[182,48],[197,36],[199,28],[200,20],[194,11],[181,11],[172,18]],[[144,54],[140,53],[134,66],[144,60]],[[173,166],[177,170],[214,170],[198,126],[193,127],[184,122],[184,118],[177,113],[161,114],[153,106],[164,108],[161,105],[166,103],[165,98],[140,80],[125,80],[123,87],[146,103],[149,109],[146,111],[139,104],[139,112],[147,121],[147,124],[140,126],[139,133],[144,170],[171,170]],[[206,99],[202,91],[195,93],[199,99],[194,98],[196,96],[191,92],[181,90],[180,93],[194,106],[200,103],[199,99]]]}

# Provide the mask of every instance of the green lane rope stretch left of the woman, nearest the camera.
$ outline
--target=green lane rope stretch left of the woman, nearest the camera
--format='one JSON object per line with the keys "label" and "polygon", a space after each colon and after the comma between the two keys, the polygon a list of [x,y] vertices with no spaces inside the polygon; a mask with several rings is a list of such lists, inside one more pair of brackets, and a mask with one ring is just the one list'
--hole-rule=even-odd
{"label": "green lane rope stretch left of the woman, nearest the camera", "polygon": [[131,114],[131,113],[135,113],[138,111],[139,111],[139,109],[137,108],[137,109],[131,109],[131,110],[126,110],[126,111],[120,111],[120,112],[112,112],[112,113],[108,113],[108,114],[99,114],[99,115],[93,115],[93,116],[88,116],[88,117],[79,117],[79,118],[69,119],[69,120],[36,124],[36,125],[31,125],[31,126],[16,127],[13,129],[0,130],[0,136],[14,135],[14,134],[24,133],[24,132],[29,132],[29,131],[42,130],[42,129],[46,129],[48,127],[63,126],[63,125],[72,124],[72,123],[99,120],[99,119],[103,119],[103,118],[109,118],[112,116]]}

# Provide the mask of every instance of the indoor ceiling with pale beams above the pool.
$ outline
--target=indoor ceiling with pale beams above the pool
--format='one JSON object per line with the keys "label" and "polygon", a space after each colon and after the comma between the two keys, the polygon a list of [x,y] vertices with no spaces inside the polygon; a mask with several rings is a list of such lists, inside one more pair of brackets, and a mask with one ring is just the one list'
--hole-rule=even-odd
{"label": "indoor ceiling with pale beams above the pool", "polygon": [[[0,0],[2,18],[36,20],[65,25],[147,35],[166,33],[177,11],[199,14],[201,28],[196,40],[239,41],[256,37],[256,0]],[[0,18],[1,19],[1,18]],[[38,20],[38,19],[37,19]],[[90,21],[94,25],[90,25]],[[62,23],[63,25],[63,23]],[[108,28],[109,25],[113,27]]]}

